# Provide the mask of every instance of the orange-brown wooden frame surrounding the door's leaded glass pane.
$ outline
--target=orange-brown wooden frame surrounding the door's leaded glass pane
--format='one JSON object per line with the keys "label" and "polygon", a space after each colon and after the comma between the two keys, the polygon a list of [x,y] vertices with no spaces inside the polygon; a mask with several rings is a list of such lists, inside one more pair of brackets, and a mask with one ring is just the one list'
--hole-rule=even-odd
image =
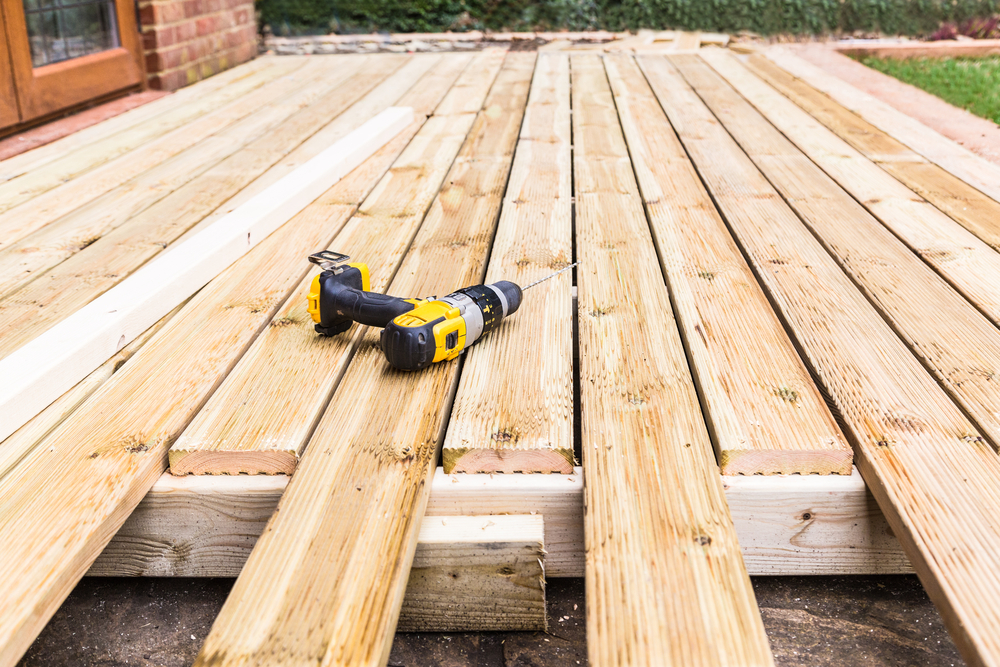
{"label": "orange-brown wooden frame surrounding the door's leaded glass pane", "polygon": [[134,0],[115,0],[121,46],[42,67],[31,66],[22,0],[0,0],[21,122],[99,99],[145,82]]}

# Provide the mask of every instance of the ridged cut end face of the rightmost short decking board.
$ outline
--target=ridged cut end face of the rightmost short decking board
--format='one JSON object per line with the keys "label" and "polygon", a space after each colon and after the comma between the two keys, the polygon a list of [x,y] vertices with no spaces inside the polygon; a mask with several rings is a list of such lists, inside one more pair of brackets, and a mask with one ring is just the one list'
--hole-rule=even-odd
{"label": "ridged cut end face of the rightmost short decking board", "polygon": [[723,475],[850,475],[853,460],[850,449],[727,449],[719,467]]}

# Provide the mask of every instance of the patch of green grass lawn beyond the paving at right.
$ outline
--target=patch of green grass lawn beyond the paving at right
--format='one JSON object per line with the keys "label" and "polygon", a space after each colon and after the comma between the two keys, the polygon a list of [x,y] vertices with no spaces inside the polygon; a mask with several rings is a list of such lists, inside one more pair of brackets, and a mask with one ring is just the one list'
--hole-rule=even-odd
{"label": "patch of green grass lawn beyond the paving at right", "polygon": [[860,60],[872,69],[1000,124],[1000,56]]}

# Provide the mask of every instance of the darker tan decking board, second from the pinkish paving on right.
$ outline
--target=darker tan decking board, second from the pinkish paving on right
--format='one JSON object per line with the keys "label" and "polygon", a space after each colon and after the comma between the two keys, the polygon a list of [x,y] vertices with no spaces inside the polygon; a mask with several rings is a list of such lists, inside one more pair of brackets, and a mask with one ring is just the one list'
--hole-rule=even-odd
{"label": "darker tan decking board, second from the pinkish paving on right", "polygon": [[812,86],[761,55],[747,67],[826,125],[837,136],[937,206],[953,220],[1000,250],[1000,203],[927,160]]}

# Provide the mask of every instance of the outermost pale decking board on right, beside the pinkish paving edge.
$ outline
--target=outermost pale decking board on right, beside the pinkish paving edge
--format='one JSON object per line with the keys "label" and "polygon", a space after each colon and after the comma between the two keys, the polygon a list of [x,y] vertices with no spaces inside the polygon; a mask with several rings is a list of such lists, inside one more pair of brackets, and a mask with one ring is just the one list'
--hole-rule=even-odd
{"label": "outermost pale decking board on right, beside the pinkish paving edge", "polygon": [[782,47],[772,47],[765,55],[782,69],[829,95],[863,119],[909,146],[925,158],[941,165],[983,194],[1000,201],[1000,165],[941,136],[917,120],[885,102],[864,93],[843,80],[824,72]]}

